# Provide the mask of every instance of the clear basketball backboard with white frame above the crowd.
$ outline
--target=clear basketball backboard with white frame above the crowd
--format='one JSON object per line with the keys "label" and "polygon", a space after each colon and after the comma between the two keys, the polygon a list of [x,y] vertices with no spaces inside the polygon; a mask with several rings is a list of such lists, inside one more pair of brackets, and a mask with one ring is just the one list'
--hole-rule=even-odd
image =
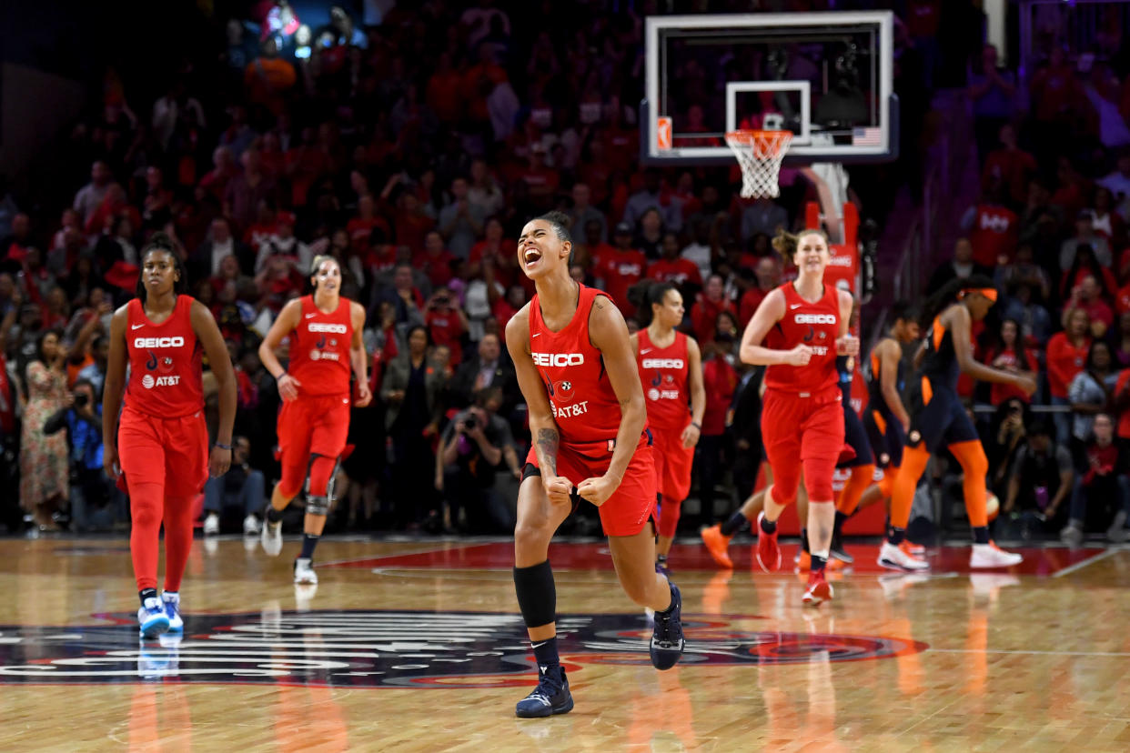
{"label": "clear basketball backboard with white frame above the crowd", "polygon": [[650,16],[641,103],[645,164],[732,164],[727,131],[783,115],[785,164],[898,155],[894,14]]}

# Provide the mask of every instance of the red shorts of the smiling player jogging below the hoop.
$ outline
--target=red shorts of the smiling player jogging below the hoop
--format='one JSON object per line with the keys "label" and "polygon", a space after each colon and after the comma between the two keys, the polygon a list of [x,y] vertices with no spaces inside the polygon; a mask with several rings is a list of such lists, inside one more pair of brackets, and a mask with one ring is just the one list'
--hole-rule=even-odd
{"label": "red shorts of the smiling player jogging below the hoop", "polygon": [[801,394],[766,389],[762,401],[762,438],[779,505],[796,499],[802,467],[809,500],[835,499],[832,474],[844,446],[843,396],[838,387]]}

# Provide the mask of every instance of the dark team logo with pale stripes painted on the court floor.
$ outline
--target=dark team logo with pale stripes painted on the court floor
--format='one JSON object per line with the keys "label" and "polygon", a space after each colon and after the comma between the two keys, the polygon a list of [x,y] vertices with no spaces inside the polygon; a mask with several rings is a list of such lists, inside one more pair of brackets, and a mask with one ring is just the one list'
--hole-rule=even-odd
{"label": "dark team logo with pale stripes painted on the court floor", "polygon": [[[684,615],[686,668],[855,662],[924,643],[876,636],[757,632],[745,615]],[[636,614],[566,614],[562,660],[649,665],[651,628]],[[140,641],[124,615],[89,627],[0,628],[0,683],[244,683],[349,688],[528,685],[522,619],[488,612],[311,611],[190,614],[185,633]]]}

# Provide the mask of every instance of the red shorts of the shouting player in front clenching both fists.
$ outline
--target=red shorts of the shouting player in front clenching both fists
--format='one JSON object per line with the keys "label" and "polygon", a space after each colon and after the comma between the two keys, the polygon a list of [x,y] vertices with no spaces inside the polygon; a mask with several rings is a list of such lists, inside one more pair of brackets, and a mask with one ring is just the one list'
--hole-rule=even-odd
{"label": "red shorts of the shouting player in front clenching both fists", "polygon": [[[611,461],[610,441],[562,445],[557,449],[557,475],[565,476],[576,487],[585,479],[605,475]],[[530,448],[525,462],[538,467],[534,448]],[[598,509],[606,536],[634,536],[643,531],[647,519],[654,514],[655,463],[646,432],[640,438],[620,485]]]}

